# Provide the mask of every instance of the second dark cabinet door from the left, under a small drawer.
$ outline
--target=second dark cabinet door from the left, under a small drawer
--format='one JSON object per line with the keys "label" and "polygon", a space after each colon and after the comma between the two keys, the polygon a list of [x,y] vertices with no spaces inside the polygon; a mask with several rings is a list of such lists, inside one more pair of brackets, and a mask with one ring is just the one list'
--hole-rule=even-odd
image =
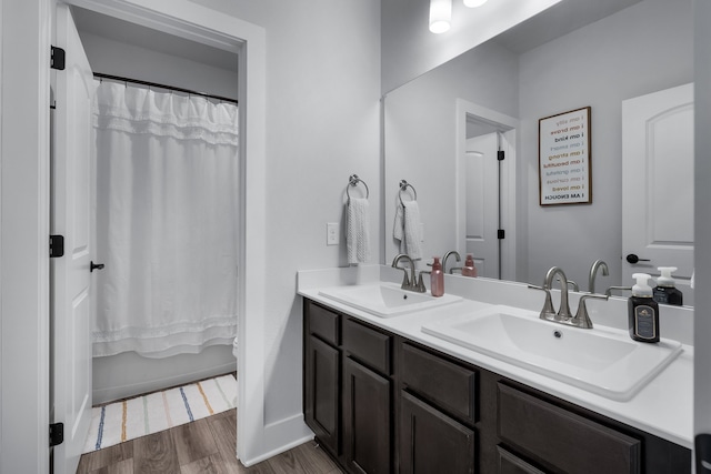
{"label": "second dark cabinet door from the left, under a small drawer", "polygon": [[350,472],[391,472],[390,393],[388,379],[343,357],[343,451]]}

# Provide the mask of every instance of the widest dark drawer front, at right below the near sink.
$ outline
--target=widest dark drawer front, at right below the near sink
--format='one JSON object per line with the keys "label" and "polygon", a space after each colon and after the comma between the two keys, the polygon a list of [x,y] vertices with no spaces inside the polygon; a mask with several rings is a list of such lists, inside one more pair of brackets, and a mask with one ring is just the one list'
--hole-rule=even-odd
{"label": "widest dark drawer front, at right below the near sink", "polygon": [[499,389],[499,437],[532,460],[575,473],[639,473],[641,442],[508,385]]}

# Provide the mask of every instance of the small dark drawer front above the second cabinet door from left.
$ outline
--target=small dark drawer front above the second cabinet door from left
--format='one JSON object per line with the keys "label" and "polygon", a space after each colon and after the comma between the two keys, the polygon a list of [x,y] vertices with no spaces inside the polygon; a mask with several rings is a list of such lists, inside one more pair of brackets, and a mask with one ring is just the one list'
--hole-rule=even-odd
{"label": "small dark drawer front above the second cabinet door from left", "polygon": [[342,336],[343,349],[350,355],[371,369],[390,375],[391,335],[344,319]]}

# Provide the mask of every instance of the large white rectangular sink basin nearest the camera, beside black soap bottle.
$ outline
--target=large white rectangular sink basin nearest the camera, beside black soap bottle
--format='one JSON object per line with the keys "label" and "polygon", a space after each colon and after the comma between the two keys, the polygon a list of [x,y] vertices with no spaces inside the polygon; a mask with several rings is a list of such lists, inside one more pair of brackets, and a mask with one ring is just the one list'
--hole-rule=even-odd
{"label": "large white rectangular sink basin nearest the camera, beside black soap bottle", "polygon": [[543,321],[495,305],[422,326],[422,332],[612,400],[630,400],[682,351],[677,341],[632,341],[627,331]]}

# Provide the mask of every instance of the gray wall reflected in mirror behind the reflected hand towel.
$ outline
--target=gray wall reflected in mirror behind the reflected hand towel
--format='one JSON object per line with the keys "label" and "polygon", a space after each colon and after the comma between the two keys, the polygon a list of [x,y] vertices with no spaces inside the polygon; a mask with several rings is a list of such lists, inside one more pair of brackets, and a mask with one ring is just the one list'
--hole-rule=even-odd
{"label": "gray wall reflected in mirror behind the reflected hand towel", "polygon": [[400,253],[392,226],[402,179],[417,190],[424,224],[419,266],[457,249],[457,99],[517,117],[518,77],[518,56],[485,43],[385,97],[385,263]]}

